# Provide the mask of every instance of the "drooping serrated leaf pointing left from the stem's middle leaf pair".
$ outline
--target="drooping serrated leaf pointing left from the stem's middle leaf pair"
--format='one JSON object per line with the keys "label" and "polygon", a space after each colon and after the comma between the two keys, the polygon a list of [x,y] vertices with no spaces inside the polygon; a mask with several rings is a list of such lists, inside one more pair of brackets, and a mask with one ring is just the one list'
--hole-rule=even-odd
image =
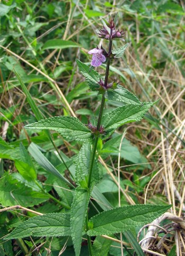
{"label": "drooping serrated leaf pointing left from the stem's middle leaf pair", "polygon": [[37,123],[24,126],[26,129],[53,130],[69,140],[92,142],[92,134],[87,127],[72,116],[54,116],[40,120]]}

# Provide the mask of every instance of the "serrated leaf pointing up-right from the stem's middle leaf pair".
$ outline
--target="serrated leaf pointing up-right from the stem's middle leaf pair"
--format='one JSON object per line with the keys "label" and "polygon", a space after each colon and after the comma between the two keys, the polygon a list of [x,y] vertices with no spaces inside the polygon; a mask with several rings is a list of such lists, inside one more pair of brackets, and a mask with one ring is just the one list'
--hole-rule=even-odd
{"label": "serrated leaf pointing up-right from the stem's middle leaf pair", "polygon": [[115,130],[120,125],[142,120],[145,113],[153,103],[142,103],[142,105],[126,105],[112,110],[102,118],[105,130]]}

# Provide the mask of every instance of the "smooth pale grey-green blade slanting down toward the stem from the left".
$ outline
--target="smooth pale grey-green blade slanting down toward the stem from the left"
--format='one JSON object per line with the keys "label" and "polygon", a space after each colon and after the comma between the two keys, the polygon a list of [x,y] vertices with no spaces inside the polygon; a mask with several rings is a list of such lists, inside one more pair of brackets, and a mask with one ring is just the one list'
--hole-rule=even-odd
{"label": "smooth pale grey-green blade slanting down toward the stem from the left", "polygon": [[63,175],[61,175],[58,170],[50,163],[50,161],[41,153],[36,144],[33,142],[30,144],[28,151],[31,153],[32,157],[37,161],[39,165],[45,168],[49,173],[55,175],[60,180],[64,181],[70,186],[73,186]]}

